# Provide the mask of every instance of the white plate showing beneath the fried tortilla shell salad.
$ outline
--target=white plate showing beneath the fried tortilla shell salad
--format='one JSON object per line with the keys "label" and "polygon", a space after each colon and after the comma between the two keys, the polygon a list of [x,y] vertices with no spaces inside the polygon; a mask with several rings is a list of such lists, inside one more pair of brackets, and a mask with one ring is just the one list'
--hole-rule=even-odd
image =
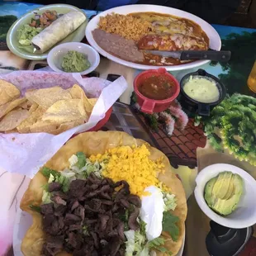
{"label": "white plate showing beneath the fried tortilla shell salad", "polygon": [[[21,253],[21,242],[26,235],[26,230],[32,225],[32,217],[26,211],[22,211],[20,208],[17,211],[14,229],[13,229],[13,254],[14,256],[23,256]],[[183,239],[183,244],[179,250],[177,256],[183,256],[183,249],[185,244],[185,235]]]}

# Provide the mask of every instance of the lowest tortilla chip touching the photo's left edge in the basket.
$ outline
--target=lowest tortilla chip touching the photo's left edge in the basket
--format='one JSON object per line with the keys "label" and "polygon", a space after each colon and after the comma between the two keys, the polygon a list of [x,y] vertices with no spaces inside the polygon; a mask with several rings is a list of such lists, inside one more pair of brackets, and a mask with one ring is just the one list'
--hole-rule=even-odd
{"label": "lowest tortilla chip touching the photo's left edge in the basket", "polygon": [[0,130],[12,130],[19,126],[21,121],[25,120],[28,116],[29,113],[25,109],[12,110],[0,121]]}

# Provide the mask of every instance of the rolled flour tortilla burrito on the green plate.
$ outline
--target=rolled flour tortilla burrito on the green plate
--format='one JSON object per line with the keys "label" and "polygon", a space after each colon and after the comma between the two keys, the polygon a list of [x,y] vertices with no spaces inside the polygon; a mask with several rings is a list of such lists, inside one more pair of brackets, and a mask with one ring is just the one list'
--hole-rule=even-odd
{"label": "rolled flour tortilla burrito on the green plate", "polygon": [[34,36],[32,44],[35,45],[40,53],[44,53],[60,40],[69,36],[69,34],[75,31],[85,20],[86,17],[83,12],[68,12],[52,22],[50,26],[47,26],[38,35]]}

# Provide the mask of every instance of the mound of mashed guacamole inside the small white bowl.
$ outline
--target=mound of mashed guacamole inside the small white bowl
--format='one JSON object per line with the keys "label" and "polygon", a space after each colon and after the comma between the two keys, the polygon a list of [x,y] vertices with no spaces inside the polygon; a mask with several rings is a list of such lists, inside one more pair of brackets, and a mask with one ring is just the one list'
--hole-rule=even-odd
{"label": "mound of mashed guacamole inside the small white bowl", "polygon": [[64,55],[61,67],[65,72],[82,72],[91,66],[86,55],[75,50],[69,50]]}

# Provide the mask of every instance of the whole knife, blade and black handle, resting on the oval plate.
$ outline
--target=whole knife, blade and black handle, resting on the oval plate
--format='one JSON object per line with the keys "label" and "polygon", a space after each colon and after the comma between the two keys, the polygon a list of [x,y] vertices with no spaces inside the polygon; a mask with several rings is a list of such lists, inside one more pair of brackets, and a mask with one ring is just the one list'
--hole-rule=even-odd
{"label": "whole knife, blade and black handle, resting on the oval plate", "polygon": [[174,59],[188,60],[188,59],[209,59],[219,62],[227,62],[230,60],[230,50],[145,50],[145,53],[151,55],[160,55],[163,57],[172,57]]}

